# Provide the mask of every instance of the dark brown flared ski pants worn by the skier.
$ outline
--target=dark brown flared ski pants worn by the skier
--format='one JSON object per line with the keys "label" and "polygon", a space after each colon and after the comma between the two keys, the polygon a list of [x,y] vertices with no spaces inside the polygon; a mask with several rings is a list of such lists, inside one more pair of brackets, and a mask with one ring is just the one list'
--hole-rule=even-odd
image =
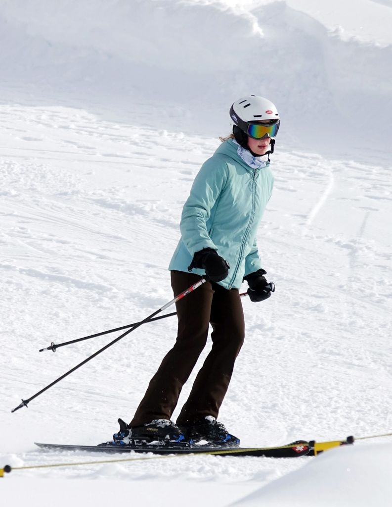
{"label": "dark brown flared ski pants worn by the skier", "polygon": [[[175,296],[198,280],[199,275],[171,271]],[[150,380],[130,426],[140,426],[153,419],[171,419],[182,386],[207,343],[209,323],[213,329],[212,348],[177,423],[187,424],[206,415],[218,416],[234,362],[244,342],[244,313],[239,290],[228,290],[217,283],[206,282],[178,301],[176,308],[176,343]]]}

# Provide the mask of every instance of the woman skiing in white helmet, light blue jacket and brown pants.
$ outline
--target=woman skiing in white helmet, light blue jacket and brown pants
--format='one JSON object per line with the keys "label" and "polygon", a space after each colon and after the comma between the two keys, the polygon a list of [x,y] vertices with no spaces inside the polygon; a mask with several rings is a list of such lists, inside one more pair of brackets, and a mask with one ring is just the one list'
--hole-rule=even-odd
{"label": "woman skiing in white helmet, light blue jacket and brown pants", "polygon": [[[152,377],[136,413],[113,444],[132,440],[239,444],[217,421],[234,361],[244,341],[239,288],[258,302],[275,290],[262,269],[256,231],[271,197],[273,152],[280,118],[269,100],[251,95],[230,108],[233,133],[195,177],[184,204],[181,239],[170,262],[175,296],[207,276],[207,282],[176,303],[178,336]],[[267,161],[260,157],[268,156]],[[199,371],[176,423],[171,420],[182,386],[206,345],[209,324],[212,349]]]}

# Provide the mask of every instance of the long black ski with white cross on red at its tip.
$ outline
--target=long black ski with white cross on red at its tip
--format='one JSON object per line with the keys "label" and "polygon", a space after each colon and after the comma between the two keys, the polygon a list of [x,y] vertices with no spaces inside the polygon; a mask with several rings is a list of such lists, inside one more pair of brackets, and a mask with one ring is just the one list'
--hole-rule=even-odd
{"label": "long black ski with white cross on red at its tip", "polygon": [[159,446],[159,445],[144,445],[144,446],[114,446],[111,444],[101,444],[98,446],[89,445],[63,445],[63,444],[43,444],[34,442],[34,444],[43,449],[56,449],[61,451],[88,451],[88,452],[104,452],[104,453],[152,453],[159,455],[170,454],[208,454],[215,456],[264,456],[267,458],[297,458],[305,456],[312,451],[309,442],[298,440],[285,446],[277,447],[228,447],[228,446],[211,446],[211,445],[196,445],[189,447],[181,446]]}

